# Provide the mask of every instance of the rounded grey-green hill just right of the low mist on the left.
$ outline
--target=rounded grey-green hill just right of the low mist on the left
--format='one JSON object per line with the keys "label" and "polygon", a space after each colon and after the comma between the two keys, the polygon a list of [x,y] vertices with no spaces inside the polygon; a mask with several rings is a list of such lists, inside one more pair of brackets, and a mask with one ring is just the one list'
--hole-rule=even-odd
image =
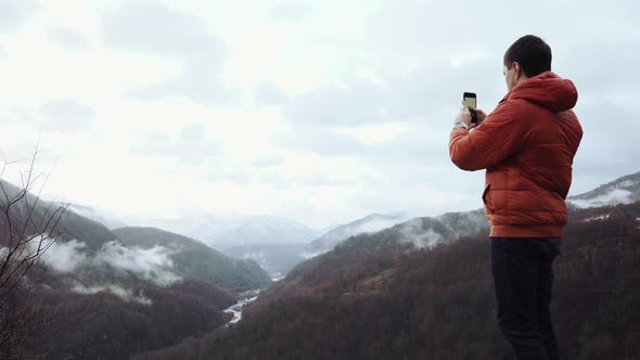
{"label": "rounded grey-green hill just right of the low mist on the left", "polygon": [[154,228],[115,229],[127,247],[166,248],[174,272],[182,279],[196,279],[234,291],[269,285],[267,273],[253,260],[236,260],[205,244]]}

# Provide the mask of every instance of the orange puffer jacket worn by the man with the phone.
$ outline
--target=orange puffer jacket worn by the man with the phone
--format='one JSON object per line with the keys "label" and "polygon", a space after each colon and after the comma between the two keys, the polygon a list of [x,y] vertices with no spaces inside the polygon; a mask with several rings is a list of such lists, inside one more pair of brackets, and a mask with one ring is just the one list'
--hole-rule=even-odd
{"label": "orange puffer jacket worn by the man with the phone", "polygon": [[573,158],[583,128],[571,80],[546,72],[514,87],[475,129],[455,129],[451,160],[487,169],[483,202],[490,236],[561,237]]}

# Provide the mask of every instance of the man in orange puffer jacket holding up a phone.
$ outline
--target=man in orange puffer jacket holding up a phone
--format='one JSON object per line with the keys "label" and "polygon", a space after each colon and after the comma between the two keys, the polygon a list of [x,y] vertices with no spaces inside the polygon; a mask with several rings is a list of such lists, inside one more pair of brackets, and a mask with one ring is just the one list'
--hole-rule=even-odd
{"label": "man in orange puffer jacket holding up a phone", "polygon": [[[488,116],[466,106],[455,120],[451,160],[486,169],[482,195],[491,224],[498,325],[516,359],[559,359],[550,304],[553,259],[583,129],[571,80],[551,72],[551,48],[532,35],[504,53],[509,92]],[[471,130],[471,131],[470,131]]]}

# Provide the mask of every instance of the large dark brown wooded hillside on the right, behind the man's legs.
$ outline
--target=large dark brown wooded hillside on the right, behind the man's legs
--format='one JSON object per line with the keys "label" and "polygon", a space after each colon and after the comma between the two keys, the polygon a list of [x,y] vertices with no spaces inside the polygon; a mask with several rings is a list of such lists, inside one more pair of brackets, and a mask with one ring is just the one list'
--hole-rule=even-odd
{"label": "large dark brown wooded hillside on the right, behind the man's legs", "polygon": [[[463,220],[414,222],[455,236],[444,223]],[[402,227],[299,265],[238,324],[135,359],[503,358],[486,230],[419,248]],[[640,358],[639,254],[640,203],[571,211],[552,307],[563,359]]]}

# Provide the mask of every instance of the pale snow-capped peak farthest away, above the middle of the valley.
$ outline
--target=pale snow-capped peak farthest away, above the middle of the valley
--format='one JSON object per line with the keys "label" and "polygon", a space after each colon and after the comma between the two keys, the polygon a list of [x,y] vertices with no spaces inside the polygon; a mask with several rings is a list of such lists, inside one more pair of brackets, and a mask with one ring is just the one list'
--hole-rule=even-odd
{"label": "pale snow-capped peak farthest away, above the middle of the valley", "polygon": [[276,216],[247,218],[232,229],[215,234],[204,242],[212,247],[248,244],[307,244],[320,235],[318,230]]}

